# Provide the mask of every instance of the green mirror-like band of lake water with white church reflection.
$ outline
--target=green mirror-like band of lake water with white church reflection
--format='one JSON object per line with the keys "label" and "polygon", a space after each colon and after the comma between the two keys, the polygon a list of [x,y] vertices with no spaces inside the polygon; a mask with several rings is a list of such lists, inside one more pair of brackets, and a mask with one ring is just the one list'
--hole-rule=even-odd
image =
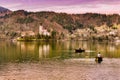
{"label": "green mirror-like band of lake water with white church reflection", "polygon": [[[74,49],[84,48],[83,53]],[[5,42],[0,41],[0,63],[43,59],[94,58],[97,52],[106,58],[120,58],[120,43],[88,41]]]}

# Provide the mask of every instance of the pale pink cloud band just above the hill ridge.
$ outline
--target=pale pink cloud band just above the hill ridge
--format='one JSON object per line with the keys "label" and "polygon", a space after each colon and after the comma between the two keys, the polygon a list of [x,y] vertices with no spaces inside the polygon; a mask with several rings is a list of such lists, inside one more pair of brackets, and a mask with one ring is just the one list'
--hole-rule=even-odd
{"label": "pale pink cloud band just above the hill ridge", "polygon": [[96,6],[93,5],[70,5],[70,6],[51,6],[51,7],[38,7],[31,9],[31,11],[55,11],[55,12],[65,12],[65,13],[103,13],[103,14],[120,14],[119,10],[120,5],[105,5],[99,4]]}

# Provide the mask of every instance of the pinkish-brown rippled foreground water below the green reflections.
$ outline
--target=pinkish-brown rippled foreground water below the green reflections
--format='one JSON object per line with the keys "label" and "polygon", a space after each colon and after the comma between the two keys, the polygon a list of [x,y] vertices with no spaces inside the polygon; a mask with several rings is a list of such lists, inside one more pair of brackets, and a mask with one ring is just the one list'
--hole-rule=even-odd
{"label": "pinkish-brown rippled foreground water below the green reflections", "polygon": [[0,65],[0,80],[119,80],[120,59],[68,59]]}

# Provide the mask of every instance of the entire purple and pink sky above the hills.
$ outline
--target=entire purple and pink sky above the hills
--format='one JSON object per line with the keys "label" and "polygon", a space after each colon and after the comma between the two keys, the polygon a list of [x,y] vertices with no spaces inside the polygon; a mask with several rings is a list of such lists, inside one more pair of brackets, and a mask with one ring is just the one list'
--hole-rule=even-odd
{"label": "entire purple and pink sky above the hills", "polygon": [[0,0],[0,6],[12,11],[120,14],[120,0]]}

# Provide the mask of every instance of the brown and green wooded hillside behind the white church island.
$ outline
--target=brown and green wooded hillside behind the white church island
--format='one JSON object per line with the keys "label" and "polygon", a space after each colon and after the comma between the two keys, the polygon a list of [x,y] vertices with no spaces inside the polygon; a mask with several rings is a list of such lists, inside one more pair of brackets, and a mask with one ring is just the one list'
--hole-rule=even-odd
{"label": "brown and green wooded hillside behind the white church island", "polygon": [[118,14],[66,14],[18,10],[0,17],[0,38],[17,38],[25,31],[37,34],[40,25],[50,33],[54,31],[57,39],[112,40],[120,37]]}

